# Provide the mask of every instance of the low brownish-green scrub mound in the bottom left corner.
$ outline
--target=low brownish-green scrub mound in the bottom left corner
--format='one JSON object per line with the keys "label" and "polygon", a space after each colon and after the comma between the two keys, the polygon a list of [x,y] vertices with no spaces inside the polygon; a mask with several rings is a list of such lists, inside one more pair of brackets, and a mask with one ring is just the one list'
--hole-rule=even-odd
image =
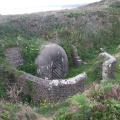
{"label": "low brownish-green scrub mound in the bottom left corner", "polygon": [[12,104],[3,101],[0,103],[0,108],[1,120],[36,120],[38,118],[34,110],[27,104]]}

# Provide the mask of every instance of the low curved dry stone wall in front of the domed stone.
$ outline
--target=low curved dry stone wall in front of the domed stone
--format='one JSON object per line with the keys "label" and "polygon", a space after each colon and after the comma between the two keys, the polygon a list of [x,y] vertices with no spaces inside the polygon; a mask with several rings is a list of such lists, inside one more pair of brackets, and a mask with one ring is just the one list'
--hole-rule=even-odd
{"label": "low curved dry stone wall in front of the domed stone", "polygon": [[19,77],[18,86],[23,87],[23,93],[30,95],[34,101],[58,102],[78,92],[83,92],[86,79],[86,73],[66,80],[45,80],[24,73]]}

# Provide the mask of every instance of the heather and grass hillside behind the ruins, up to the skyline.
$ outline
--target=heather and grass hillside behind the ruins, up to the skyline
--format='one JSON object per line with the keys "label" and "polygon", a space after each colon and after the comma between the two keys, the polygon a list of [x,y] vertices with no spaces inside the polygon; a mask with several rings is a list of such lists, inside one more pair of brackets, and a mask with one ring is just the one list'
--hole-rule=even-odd
{"label": "heather and grass hillside behind the ruins, up to the skyline", "polygon": [[0,22],[1,56],[5,48],[19,43],[26,61],[25,67],[21,69],[35,74],[33,58],[37,56],[39,45],[43,44],[43,41],[57,41],[68,54],[70,66],[68,77],[74,76],[88,68],[73,66],[71,44],[78,48],[79,56],[88,62],[88,66],[94,63],[91,61],[95,61],[99,48],[106,48],[108,52],[114,51],[120,41],[119,11],[119,7],[108,7],[108,4],[101,2],[50,15],[41,13],[5,16],[5,20]]}

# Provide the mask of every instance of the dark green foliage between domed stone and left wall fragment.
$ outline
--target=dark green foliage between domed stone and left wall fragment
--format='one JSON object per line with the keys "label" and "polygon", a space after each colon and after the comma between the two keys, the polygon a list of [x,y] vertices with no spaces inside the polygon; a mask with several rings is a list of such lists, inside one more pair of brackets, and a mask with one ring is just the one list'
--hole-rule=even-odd
{"label": "dark green foliage between domed stone and left wall fragment", "polygon": [[39,48],[42,44],[42,40],[38,38],[33,38],[30,40],[26,40],[26,42],[22,42],[21,44],[24,64],[21,65],[19,69],[27,73],[36,75],[37,68],[35,65],[35,58],[39,53]]}

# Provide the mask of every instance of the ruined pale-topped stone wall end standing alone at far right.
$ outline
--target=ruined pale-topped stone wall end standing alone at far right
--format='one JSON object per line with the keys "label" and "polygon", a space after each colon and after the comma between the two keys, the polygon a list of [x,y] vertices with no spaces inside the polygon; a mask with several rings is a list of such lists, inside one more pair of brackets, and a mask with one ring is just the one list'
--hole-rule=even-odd
{"label": "ruined pale-topped stone wall end standing alone at far right", "polygon": [[115,69],[116,69],[116,58],[107,52],[102,52],[99,55],[100,59],[103,61],[102,64],[102,79],[114,79]]}

